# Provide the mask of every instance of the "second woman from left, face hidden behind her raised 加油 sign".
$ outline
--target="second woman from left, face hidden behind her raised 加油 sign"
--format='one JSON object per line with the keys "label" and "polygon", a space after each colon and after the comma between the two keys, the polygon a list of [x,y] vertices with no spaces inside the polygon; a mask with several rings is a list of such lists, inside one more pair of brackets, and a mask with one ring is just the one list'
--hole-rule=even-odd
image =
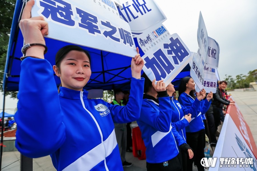
{"label": "second woman from left, face hidden behind her raised \u52a0\u6cb9 sign", "polygon": [[[140,118],[136,121],[146,146],[148,171],[182,170],[179,150],[193,152],[171,123],[172,112],[166,86],[162,80],[155,85],[145,74],[144,96]],[[157,99],[158,94],[158,99]]]}

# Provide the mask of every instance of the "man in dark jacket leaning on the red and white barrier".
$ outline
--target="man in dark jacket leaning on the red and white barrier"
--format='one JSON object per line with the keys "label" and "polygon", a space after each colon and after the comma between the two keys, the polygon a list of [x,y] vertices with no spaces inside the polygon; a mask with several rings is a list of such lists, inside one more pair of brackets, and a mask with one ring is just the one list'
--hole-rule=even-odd
{"label": "man in dark jacket leaning on the red and white barrier", "polygon": [[214,111],[214,119],[215,119],[215,126],[216,130],[217,127],[221,122],[224,121],[224,113],[222,110],[222,107],[224,105],[234,105],[234,101],[229,101],[225,98],[224,96],[224,90],[227,87],[227,82],[226,81],[221,81],[219,82],[219,86],[217,87],[216,93],[213,94],[213,101],[212,101],[212,107]]}

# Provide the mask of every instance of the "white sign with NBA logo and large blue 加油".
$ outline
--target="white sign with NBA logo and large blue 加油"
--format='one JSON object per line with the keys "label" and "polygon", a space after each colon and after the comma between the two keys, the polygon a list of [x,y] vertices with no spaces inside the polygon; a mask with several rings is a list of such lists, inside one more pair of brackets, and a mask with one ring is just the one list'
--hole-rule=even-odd
{"label": "white sign with NBA logo and large blue \u52a0\u6cb9", "polygon": [[[157,35],[153,30],[158,30]],[[152,81],[164,80],[166,86],[180,73],[192,59],[190,51],[178,34],[170,35],[164,25],[159,24],[137,36],[137,41],[145,53],[143,70]]]}

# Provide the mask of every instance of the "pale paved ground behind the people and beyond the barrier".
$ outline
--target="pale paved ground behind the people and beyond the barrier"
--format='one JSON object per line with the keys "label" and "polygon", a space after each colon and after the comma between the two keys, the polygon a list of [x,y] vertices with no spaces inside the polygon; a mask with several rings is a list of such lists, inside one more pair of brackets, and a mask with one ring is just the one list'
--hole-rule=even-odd
{"label": "pale paved ground behind the people and beyond the barrier", "polygon": [[[249,125],[254,141],[257,144],[257,91],[250,92],[238,92],[230,91],[238,104],[241,113],[244,116],[247,124]],[[220,128],[219,128],[220,129]],[[20,153],[15,152],[3,152],[2,171],[19,171],[20,170]],[[125,167],[125,171],[146,171],[146,160],[138,160],[132,153],[126,154],[128,162],[132,162],[133,165]],[[50,156],[33,159],[34,171],[55,171]],[[194,168],[194,171],[197,169]]]}

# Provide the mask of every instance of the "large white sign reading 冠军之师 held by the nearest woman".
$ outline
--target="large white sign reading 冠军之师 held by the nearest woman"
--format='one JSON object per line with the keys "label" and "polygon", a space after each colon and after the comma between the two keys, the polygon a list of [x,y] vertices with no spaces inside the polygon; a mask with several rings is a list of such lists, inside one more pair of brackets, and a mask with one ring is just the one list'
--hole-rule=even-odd
{"label": "large white sign reading \u51a0\u519b\u4e4b\u5e08 held by the nearest woman", "polygon": [[136,47],[127,22],[111,0],[36,0],[31,16],[43,16],[47,37],[134,57]]}

